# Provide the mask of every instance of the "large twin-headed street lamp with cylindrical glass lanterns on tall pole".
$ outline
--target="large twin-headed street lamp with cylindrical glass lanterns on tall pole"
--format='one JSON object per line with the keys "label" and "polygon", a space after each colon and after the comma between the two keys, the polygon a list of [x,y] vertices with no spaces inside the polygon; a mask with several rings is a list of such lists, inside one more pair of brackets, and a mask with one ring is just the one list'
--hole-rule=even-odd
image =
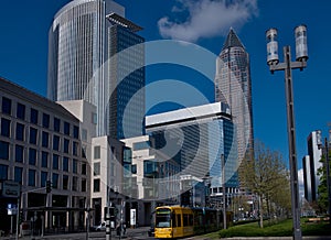
{"label": "large twin-headed street lamp with cylindrical glass lanterns on tall pole", "polygon": [[296,150],[296,126],[293,112],[293,91],[292,91],[292,73],[291,69],[307,66],[307,26],[299,25],[295,29],[296,35],[296,61],[291,62],[290,46],[284,47],[284,63],[279,63],[277,29],[269,29],[266,32],[267,37],[267,64],[271,74],[275,70],[285,70],[285,89],[287,100],[287,131],[289,143],[289,165],[290,165],[290,185],[291,185],[291,206],[293,218],[293,239],[301,239],[300,227],[300,206],[299,206],[299,182],[297,170],[297,150]]}

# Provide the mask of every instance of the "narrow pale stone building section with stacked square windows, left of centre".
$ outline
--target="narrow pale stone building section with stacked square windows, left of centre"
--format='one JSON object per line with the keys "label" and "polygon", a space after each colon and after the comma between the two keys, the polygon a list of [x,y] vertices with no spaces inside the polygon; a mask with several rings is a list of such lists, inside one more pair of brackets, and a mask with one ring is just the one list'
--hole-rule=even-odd
{"label": "narrow pale stone building section with stacked square windows, left of centre", "polygon": [[116,207],[116,220],[125,219],[124,212],[124,148],[110,137],[92,139],[92,193],[93,225],[105,221],[105,207]]}

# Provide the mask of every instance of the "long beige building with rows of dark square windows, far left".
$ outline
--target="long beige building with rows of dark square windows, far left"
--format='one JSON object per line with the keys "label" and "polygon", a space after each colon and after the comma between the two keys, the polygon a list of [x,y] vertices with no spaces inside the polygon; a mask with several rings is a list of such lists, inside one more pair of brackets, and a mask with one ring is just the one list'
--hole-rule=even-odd
{"label": "long beige building with rows of dark square windows, far left", "polygon": [[[0,179],[21,185],[22,218],[33,219],[39,227],[43,219],[46,229],[84,228],[90,167],[88,148],[82,149],[95,134],[95,124],[84,126],[63,106],[3,78],[0,92]],[[89,103],[78,105],[81,116],[95,113]],[[86,135],[84,141],[82,135]],[[52,182],[51,193],[46,193],[46,181]],[[10,225],[9,203],[17,199],[0,197],[4,229]]]}

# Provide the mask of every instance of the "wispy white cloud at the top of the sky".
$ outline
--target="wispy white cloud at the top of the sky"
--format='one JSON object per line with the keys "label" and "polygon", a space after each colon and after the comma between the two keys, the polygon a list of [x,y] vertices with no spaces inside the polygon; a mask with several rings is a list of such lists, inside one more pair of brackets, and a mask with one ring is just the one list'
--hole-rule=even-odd
{"label": "wispy white cloud at the top of the sky", "polygon": [[228,32],[231,26],[241,28],[257,15],[257,0],[178,0],[172,8],[174,17],[163,17],[158,26],[162,37],[196,42]]}

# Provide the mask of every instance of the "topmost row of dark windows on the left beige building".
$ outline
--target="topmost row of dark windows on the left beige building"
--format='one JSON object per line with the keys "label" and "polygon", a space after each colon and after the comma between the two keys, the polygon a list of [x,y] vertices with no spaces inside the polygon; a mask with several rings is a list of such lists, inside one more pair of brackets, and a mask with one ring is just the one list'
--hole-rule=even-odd
{"label": "topmost row of dark windows on the left beige building", "polygon": [[[26,114],[28,110],[25,105],[17,102],[17,108],[15,108],[15,114],[13,114],[13,106],[12,106],[12,100],[7,98],[7,97],[2,97],[2,102],[1,102],[1,111],[4,114],[9,114],[12,117],[17,117],[18,119],[21,119],[23,121],[26,121],[28,118],[30,120],[30,123],[32,124],[40,124],[40,119],[39,119],[39,110],[34,109],[34,108],[30,108],[30,116]],[[50,129],[51,128],[51,116],[43,112],[42,113],[42,121],[41,121],[41,126],[45,129]],[[61,132],[61,119],[54,117],[53,118],[53,131],[55,132]],[[73,135],[75,139],[78,139],[79,137],[79,128],[77,126],[73,126],[72,129],[72,134],[71,134],[71,123],[67,121],[63,121],[63,130],[62,132],[66,135]]]}

